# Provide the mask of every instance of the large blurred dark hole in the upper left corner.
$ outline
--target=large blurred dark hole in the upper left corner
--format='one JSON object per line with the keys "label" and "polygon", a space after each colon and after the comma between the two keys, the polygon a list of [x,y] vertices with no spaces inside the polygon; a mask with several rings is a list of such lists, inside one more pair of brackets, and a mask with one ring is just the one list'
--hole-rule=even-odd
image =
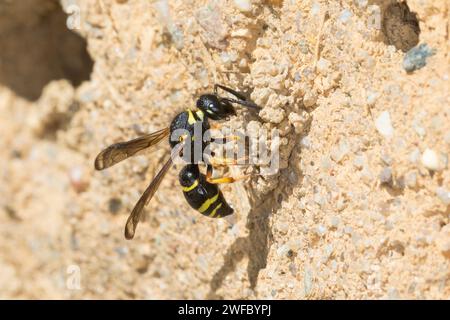
{"label": "large blurred dark hole in the upper left corner", "polygon": [[67,28],[67,19],[57,0],[1,3],[0,85],[35,101],[52,80],[68,79],[75,87],[89,80],[86,41]]}

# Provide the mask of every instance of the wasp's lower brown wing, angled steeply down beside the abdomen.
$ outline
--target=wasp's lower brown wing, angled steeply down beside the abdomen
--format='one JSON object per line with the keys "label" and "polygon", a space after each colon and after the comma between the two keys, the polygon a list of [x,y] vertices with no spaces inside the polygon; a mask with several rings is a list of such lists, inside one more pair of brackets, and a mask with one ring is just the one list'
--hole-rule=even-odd
{"label": "wasp's lower brown wing, angled steeply down beside the abdomen", "polygon": [[158,172],[156,177],[153,179],[153,181],[150,183],[150,185],[142,194],[139,201],[134,206],[134,209],[131,212],[130,216],[128,217],[127,223],[125,225],[125,238],[127,238],[128,240],[133,239],[137,224],[141,219],[142,210],[144,209],[145,205],[149,203],[149,201],[155,194],[156,190],[161,184],[161,181],[163,180],[164,176],[169,171],[171,166],[172,166],[172,157],[170,157],[169,160],[167,160],[162,169]]}

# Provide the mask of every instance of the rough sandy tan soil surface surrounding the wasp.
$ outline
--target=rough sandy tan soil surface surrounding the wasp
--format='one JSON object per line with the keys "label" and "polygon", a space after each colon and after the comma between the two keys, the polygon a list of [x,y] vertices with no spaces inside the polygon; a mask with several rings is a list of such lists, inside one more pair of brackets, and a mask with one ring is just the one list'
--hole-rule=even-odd
{"label": "rough sandy tan soil surface surrounding the wasp", "polygon": [[[0,1],[0,298],[450,298],[449,21],[446,0]],[[280,130],[280,172],[223,186],[236,215],[211,220],[173,168],[125,240],[168,146],[95,156],[216,82],[264,107],[227,126]]]}

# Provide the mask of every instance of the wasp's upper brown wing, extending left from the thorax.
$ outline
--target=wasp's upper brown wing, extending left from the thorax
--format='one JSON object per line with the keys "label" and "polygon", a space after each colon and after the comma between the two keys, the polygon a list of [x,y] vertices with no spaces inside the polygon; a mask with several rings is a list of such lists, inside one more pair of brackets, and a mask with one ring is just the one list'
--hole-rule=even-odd
{"label": "wasp's upper brown wing, extending left from the thorax", "polygon": [[169,135],[169,128],[146,134],[142,137],[110,145],[95,158],[95,169],[103,170],[123,161],[137,152],[149,148]]}

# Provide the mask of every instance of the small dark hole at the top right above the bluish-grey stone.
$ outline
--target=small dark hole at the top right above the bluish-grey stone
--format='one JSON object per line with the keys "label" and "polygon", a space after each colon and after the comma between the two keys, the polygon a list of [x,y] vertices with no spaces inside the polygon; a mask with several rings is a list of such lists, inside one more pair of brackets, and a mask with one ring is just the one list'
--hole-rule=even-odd
{"label": "small dark hole at the top right above the bluish-grey stone", "polygon": [[374,0],[381,9],[384,42],[403,52],[419,43],[420,26],[417,14],[403,0]]}

